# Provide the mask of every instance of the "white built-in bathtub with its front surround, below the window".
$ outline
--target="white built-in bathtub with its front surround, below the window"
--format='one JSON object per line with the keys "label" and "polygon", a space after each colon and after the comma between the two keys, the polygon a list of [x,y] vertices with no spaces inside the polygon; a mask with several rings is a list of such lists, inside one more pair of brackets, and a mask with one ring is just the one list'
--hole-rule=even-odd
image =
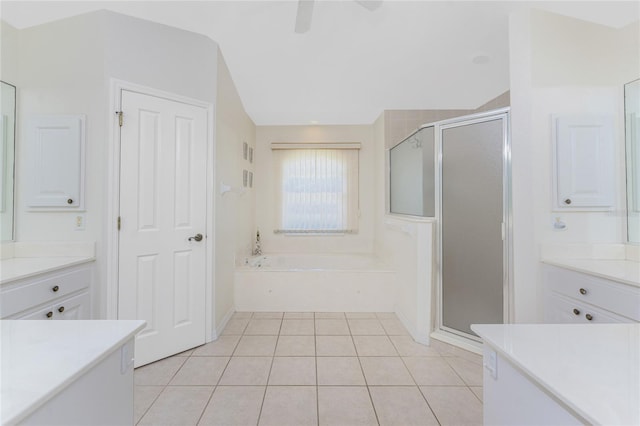
{"label": "white built-in bathtub with its front surround, below the window", "polygon": [[395,272],[372,255],[265,254],[235,270],[237,311],[393,312]]}

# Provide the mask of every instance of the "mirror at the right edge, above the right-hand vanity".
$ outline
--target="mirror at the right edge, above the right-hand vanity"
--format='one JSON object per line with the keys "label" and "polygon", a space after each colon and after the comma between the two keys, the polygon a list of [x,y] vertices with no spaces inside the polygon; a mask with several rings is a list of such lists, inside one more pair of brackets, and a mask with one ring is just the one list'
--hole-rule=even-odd
{"label": "mirror at the right edge, above the right-hand vanity", "polygon": [[640,243],[640,79],[624,86],[627,240]]}

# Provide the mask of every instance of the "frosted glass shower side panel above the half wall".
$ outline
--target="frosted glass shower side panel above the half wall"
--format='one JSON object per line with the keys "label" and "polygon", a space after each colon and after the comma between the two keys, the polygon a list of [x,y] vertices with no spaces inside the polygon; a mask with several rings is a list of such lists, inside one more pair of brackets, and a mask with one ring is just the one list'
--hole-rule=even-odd
{"label": "frosted glass shower side panel above the half wall", "polygon": [[435,133],[423,127],[389,151],[391,213],[435,215]]}

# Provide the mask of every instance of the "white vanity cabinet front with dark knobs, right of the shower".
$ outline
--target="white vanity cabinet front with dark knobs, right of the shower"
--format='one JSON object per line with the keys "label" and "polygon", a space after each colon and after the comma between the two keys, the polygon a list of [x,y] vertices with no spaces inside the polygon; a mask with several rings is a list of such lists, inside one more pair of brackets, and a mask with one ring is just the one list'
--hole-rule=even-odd
{"label": "white vanity cabinet front with dark knobs, right of the shower", "polygon": [[543,264],[550,324],[640,322],[640,287]]}

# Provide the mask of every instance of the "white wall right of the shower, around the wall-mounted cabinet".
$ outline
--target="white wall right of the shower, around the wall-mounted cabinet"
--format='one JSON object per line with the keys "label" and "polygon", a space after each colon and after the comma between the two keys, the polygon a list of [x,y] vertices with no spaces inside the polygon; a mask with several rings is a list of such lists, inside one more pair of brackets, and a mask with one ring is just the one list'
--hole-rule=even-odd
{"label": "white wall right of the shower, around the wall-mounted cabinet", "polygon": [[[532,10],[510,19],[515,320],[541,316],[541,246],[623,243],[623,84],[637,78],[638,24],[616,30]],[[552,212],[551,115],[615,119],[615,206],[610,212]],[[552,228],[561,217],[568,229]]]}

